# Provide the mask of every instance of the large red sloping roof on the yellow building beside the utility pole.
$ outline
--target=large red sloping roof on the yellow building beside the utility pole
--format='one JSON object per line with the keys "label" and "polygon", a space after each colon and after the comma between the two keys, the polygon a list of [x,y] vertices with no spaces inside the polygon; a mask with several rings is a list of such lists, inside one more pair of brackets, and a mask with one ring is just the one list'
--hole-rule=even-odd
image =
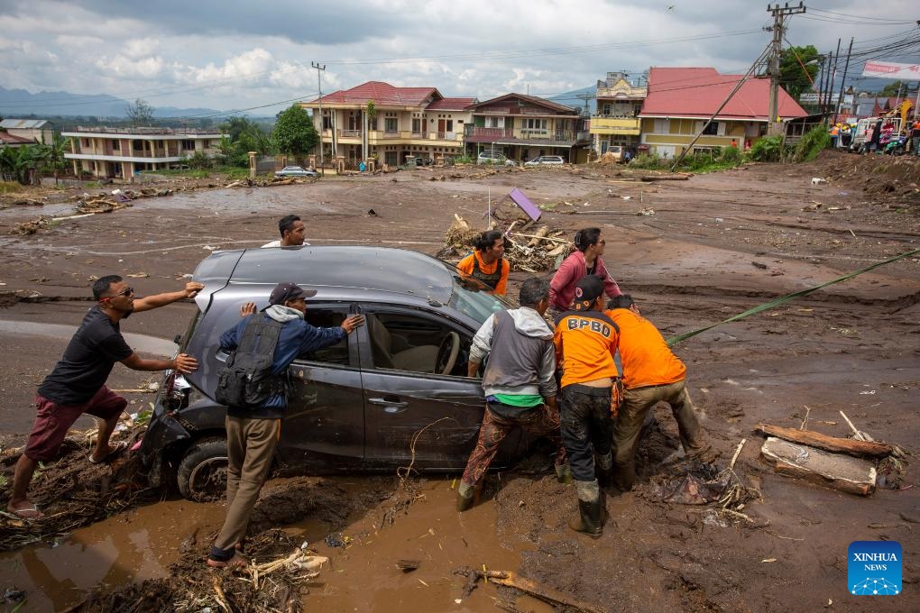
{"label": "large red sloping roof on the yellow building beside the utility pole", "polygon": [[[741,74],[719,74],[715,68],[651,68],[649,96],[640,115],[709,117],[741,78]],[[732,96],[719,117],[765,120],[769,113],[769,92],[768,80],[750,79]],[[783,119],[808,115],[782,87],[778,113]]]}

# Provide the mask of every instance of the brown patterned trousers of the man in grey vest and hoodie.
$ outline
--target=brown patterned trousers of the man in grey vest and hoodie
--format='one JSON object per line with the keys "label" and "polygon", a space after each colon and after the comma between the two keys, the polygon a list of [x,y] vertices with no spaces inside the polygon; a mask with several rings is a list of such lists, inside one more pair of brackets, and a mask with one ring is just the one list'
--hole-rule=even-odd
{"label": "brown patterned trousers of the man in grey vest and hoodie", "polygon": [[515,427],[522,427],[525,432],[535,437],[548,438],[557,449],[556,465],[566,463],[566,449],[562,446],[562,438],[559,437],[558,412],[553,411],[546,404],[534,409],[522,409],[522,411],[523,414],[519,417],[502,417],[500,414],[492,413],[489,410],[489,404],[486,404],[486,414],[483,415],[482,426],[479,426],[476,448],[473,449],[473,453],[469,454],[469,460],[466,460],[463,482],[475,486],[482,479],[489,470],[489,464],[495,458],[501,441]]}

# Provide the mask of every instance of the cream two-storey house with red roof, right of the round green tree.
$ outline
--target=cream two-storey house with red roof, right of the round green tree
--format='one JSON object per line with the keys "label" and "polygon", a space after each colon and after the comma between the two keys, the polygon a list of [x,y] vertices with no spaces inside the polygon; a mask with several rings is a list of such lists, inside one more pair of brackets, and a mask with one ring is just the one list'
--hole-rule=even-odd
{"label": "cream two-storey house with red roof, right of the round green tree", "polygon": [[339,157],[353,168],[370,158],[401,165],[408,157],[434,161],[459,155],[471,118],[466,108],[474,102],[444,97],[434,87],[369,81],[301,106],[313,111],[324,161]]}

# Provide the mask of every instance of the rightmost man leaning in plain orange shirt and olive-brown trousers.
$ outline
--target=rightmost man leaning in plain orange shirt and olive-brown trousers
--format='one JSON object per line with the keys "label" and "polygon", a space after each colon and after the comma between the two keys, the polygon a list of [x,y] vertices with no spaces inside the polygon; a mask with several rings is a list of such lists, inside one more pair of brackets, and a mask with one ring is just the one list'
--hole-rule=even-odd
{"label": "rightmost man leaning in plain orange shirt and olive-brown trousers", "polygon": [[715,459],[694,414],[686,390],[686,367],[674,356],[649,320],[638,313],[628,295],[616,296],[606,314],[619,327],[620,358],[623,360],[623,405],[614,425],[614,479],[624,490],[636,482],[636,448],[645,417],[655,404],[671,405],[681,445],[688,456],[701,461]]}

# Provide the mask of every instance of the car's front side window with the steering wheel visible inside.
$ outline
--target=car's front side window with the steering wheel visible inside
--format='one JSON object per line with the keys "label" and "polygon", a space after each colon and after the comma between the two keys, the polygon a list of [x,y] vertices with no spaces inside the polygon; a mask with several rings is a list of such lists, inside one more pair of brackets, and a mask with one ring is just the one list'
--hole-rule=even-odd
{"label": "car's front side window with the steering wheel visible inside", "polygon": [[364,312],[374,369],[466,377],[473,338],[434,318]]}

